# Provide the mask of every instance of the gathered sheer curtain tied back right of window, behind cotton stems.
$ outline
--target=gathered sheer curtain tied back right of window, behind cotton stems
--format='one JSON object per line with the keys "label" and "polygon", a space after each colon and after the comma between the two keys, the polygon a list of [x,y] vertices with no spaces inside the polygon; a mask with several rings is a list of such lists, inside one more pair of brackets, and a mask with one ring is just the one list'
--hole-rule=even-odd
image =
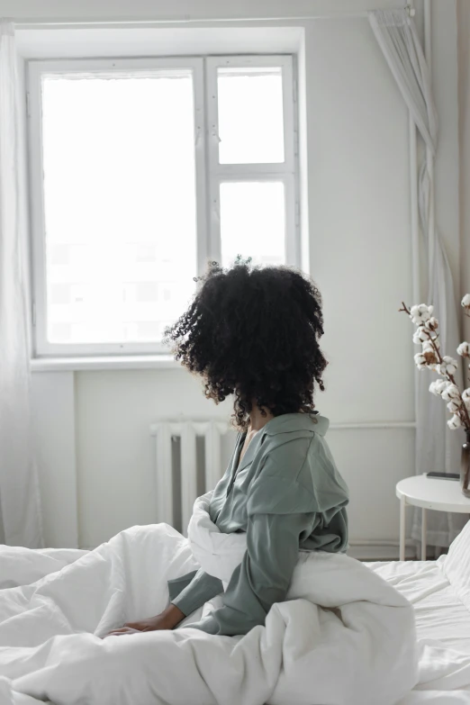
{"label": "gathered sheer curtain tied back right of window, behind cotton stems", "polygon": [[[416,27],[405,10],[375,10],[369,13],[369,22],[426,146],[420,173],[416,175],[420,229],[428,259],[428,291],[420,295],[424,303],[432,303],[435,307],[442,349],[447,355],[456,357],[459,330],[454,284],[434,218],[434,158],[438,143],[438,120],[431,94],[429,70]],[[410,327],[410,335],[411,332]],[[458,383],[461,374],[459,371]],[[429,470],[455,473],[460,465],[463,438],[458,431],[447,428],[445,404],[429,393],[432,378],[432,373],[428,371],[416,372],[416,473]],[[462,515],[429,512],[429,544],[447,547],[465,521]],[[420,540],[420,511],[414,514],[412,538]]]}

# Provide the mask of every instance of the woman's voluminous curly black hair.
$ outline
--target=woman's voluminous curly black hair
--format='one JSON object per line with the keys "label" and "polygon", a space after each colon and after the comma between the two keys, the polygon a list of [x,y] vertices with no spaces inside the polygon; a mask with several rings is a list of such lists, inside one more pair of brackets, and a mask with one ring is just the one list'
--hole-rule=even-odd
{"label": "woman's voluminous curly black hair", "polygon": [[212,262],[187,311],[165,331],[176,360],[203,376],[204,393],[219,403],[235,394],[233,420],[246,430],[254,404],[266,415],[312,413],[315,382],[327,361],[321,294],[290,267],[251,267],[238,258]]}

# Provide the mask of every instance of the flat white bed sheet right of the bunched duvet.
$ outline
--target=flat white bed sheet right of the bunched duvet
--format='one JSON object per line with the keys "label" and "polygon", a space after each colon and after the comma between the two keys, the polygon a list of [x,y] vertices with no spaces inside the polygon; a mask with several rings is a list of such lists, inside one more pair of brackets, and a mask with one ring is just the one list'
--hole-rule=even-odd
{"label": "flat white bed sheet right of the bunched duvet", "polygon": [[411,601],[416,613],[420,682],[399,705],[470,705],[470,611],[439,561],[368,564]]}

